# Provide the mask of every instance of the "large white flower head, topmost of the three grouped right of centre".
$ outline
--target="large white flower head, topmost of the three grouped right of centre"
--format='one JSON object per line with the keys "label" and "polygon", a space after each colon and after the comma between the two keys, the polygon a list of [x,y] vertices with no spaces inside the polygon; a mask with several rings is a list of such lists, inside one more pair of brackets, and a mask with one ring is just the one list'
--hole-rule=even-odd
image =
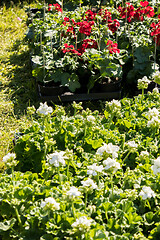
{"label": "large white flower head, topmost of the three grouped right of centre", "polygon": [[112,143],[104,143],[102,147],[97,149],[97,154],[99,155],[103,155],[104,152],[110,154],[112,156],[112,158],[117,158],[118,157],[118,152],[119,151],[119,147],[116,145],[113,145]]}

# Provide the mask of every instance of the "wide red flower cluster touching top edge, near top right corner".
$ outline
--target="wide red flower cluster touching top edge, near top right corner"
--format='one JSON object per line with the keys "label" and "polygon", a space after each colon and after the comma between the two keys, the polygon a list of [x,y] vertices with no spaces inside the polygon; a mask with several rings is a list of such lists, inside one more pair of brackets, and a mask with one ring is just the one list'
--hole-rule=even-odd
{"label": "wide red flower cluster touching top edge, near top right corner", "polygon": [[132,20],[144,20],[144,16],[146,15],[147,17],[153,17],[154,16],[154,9],[149,5],[148,1],[140,2],[140,5],[142,7],[137,8],[136,10],[130,3],[126,3],[128,5],[127,7],[118,7],[118,11],[120,12],[120,16],[122,18],[127,17],[127,21],[131,22]]}

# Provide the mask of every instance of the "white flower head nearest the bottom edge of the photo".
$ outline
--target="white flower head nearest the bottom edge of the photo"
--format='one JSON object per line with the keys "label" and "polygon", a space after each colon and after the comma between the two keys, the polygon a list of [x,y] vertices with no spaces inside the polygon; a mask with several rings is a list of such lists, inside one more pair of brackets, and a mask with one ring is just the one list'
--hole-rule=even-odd
{"label": "white flower head nearest the bottom edge of the photo", "polygon": [[92,219],[88,219],[86,216],[82,216],[76,219],[74,223],[72,223],[72,228],[74,228],[75,231],[80,232],[88,231],[92,224],[92,221]]}

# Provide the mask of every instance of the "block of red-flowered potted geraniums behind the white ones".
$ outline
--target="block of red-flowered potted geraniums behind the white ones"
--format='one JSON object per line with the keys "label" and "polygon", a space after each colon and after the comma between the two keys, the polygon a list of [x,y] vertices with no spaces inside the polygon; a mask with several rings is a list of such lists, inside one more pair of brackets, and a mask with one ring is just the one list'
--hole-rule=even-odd
{"label": "block of red-flowered potted geraniums behind the white ones", "polygon": [[159,68],[156,3],[122,1],[116,8],[108,4],[72,11],[55,3],[45,5],[42,12],[30,24],[33,76],[42,85],[89,92],[99,84],[123,79],[133,87]]}

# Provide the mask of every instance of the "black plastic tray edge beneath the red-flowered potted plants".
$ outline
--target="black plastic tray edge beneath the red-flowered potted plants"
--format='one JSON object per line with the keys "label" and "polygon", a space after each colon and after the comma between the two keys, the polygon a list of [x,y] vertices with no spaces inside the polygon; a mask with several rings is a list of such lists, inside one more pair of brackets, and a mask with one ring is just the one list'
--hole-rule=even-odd
{"label": "black plastic tray edge beneath the red-flowered potted plants", "polygon": [[94,92],[94,93],[71,93],[65,92],[63,94],[57,95],[44,95],[40,91],[40,86],[38,85],[38,95],[42,102],[72,102],[72,101],[87,101],[87,100],[111,100],[120,99],[122,91],[115,92]]}

